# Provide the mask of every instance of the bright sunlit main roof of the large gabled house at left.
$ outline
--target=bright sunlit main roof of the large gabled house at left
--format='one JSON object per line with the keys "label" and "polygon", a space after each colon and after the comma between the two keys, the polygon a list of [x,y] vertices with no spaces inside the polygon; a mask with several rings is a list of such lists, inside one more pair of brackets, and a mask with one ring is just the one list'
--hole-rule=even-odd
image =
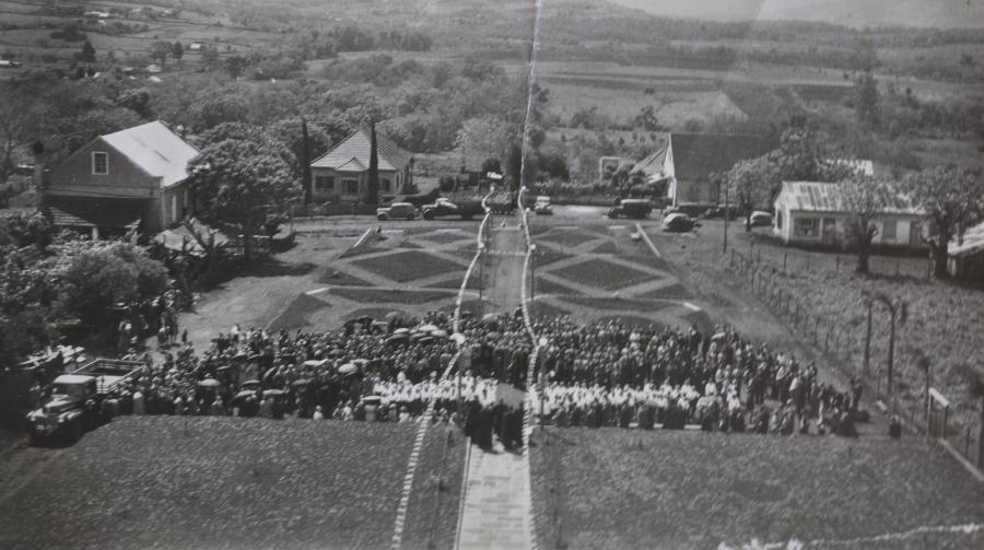
{"label": "bright sunlit main roof of the large gabled house at left", "polygon": [[148,122],[103,136],[103,141],[169,187],[188,177],[188,161],[198,150],[161,121]]}

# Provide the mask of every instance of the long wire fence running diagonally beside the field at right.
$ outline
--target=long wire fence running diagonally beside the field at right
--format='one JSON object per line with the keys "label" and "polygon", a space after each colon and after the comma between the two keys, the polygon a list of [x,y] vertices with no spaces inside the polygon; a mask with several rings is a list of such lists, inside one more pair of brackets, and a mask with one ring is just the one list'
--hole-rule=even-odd
{"label": "long wire fence running diagonally beside the field at right", "polygon": [[799,340],[820,351],[828,364],[858,379],[864,393],[881,401],[886,411],[898,416],[910,432],[946,440],[969,461],[984,467],[980,423],[960,425],[947,419],[930,430],[934,418],[928,391],[919,391],[921,386],[925,389],[928,384],[910,384],[913,381],[903,381],[897,370],[890,391],[886,365],[871,366],[862,362],[858,366],[857,358],[865,356],[865,331],[843,323],[837,316],[818,313],[816,305],[801,297],[801,292],[794,288],[788,277],[789,264],[773,265],[775,257],[763,250],[765,248],[757,247],[755,253],[763,254],[754,255],[731,249],[730,267],[754,294],[788,323]]}

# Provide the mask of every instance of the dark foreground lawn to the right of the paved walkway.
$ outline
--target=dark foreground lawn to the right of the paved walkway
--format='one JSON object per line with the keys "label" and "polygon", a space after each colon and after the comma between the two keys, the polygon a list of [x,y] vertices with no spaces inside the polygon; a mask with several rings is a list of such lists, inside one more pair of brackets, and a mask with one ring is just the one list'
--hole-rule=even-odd
{"label": "dark foreground lawn to the right of the paved walkway", "polygon": [[[542,548],[741,548],[984,523],[984,485],[924,440],[548,429],[535,444]],[[807,548],[982,543],[984,530]]]}

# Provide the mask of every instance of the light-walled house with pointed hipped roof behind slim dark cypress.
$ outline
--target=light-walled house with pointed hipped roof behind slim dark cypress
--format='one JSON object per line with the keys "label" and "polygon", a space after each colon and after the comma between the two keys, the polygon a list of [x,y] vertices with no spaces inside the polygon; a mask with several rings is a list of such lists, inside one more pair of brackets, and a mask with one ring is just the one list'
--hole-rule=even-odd
{"label": "light-walled house with pointed hipped roof behind slim dark cypress", "polygon": [[[413,154],[376,131],[379,194],[397,194],[412,183]],[[360,128],[311,163],[315,202],[362,202],[368,195],[372,139]]]}

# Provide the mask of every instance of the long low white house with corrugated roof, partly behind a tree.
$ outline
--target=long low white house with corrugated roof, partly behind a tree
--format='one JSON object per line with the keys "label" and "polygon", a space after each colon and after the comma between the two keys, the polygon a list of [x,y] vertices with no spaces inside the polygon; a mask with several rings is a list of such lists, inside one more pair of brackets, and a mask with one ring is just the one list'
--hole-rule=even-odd
{"label": "long low white house with corrugated roof, partly behind a tree", "polygon": [[[837,184],[784,182],[773,207],[772,232],[786,244],[840,244],[844,219]],[[926,246],[926,214],[904,197],[887,196],[872,244],[907,248]]]}

